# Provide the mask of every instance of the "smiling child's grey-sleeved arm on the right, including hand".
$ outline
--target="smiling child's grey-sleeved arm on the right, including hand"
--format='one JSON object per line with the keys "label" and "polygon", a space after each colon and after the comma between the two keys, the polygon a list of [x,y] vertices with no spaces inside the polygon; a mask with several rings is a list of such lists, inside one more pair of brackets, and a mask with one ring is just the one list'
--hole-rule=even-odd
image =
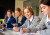
{"label": "smiling child's grey-sleeved arm on the right, including hand", "polygon": [[34,29],[34,27],[36,27],[39,24],[39,21],[40,21],[39,18],[37,17],[34,18],[32,21],[32,24],[29,27],[25,28],[24,31],[25,32],[35,32],[36,29]]}

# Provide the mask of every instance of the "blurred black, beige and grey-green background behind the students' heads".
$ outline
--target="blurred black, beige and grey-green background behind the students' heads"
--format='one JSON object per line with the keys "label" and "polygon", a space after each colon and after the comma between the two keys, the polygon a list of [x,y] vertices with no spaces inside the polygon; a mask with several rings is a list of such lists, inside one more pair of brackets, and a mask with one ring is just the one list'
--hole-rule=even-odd
{"label": "blurred black, beige and grey-green background behind the students' heads", "polygon": [[0,0],[0,19],[4,18],[8,9],[12,10],[12,15],[16,18],[15,9],[19,7],[23,10],[26,6],[30,6],[35,13],[34,15],[38,16],[41,13],[39,5],[40,0]]}

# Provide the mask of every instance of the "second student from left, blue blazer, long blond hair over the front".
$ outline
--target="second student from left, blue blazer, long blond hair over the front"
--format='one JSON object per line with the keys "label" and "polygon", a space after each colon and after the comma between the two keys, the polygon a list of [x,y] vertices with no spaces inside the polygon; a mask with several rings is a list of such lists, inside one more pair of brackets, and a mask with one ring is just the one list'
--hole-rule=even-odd
{"label": "second student from left, blue blazer, long blond hair over the front", "polygon": [[15,14],[17,15],[17,24],[13,24],[16,25],[16,27],[20,27],[24,24],[26,17],[24,15],[22,15],[22,11],[20,8],[15,9]]}

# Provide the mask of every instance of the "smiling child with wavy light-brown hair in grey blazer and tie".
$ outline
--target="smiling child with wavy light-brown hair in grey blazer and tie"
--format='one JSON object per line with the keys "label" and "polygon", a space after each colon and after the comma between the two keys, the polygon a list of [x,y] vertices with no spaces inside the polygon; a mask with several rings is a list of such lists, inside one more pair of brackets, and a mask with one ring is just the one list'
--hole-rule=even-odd
{"label": "smiling child with wavy light-brown hair in grey blazer and tie", "polygon": [[[31,7],[27,6],[24,11],[24,16],[27,18],[25,23],[19,28],[13,28],[14,31],[20,31],[21,33],[33,32],[33,27],[36,27],[39,23],[39,17],[34,16],[34,12]],[[36,30],[35,30],[36,31]]]}

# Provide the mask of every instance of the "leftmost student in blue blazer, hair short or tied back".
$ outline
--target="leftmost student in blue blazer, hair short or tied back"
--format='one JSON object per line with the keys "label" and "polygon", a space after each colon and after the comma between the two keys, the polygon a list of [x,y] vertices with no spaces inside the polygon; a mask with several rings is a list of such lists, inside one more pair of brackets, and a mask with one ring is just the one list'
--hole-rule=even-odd
{"label": "leftmost student in blue blazer, hair short or tied back", "polygon": [[7,16],[4,20],[5,21],[3,21],[3,24],[6,24],[7,28],[13,28],[13,24],[16,23],[16,20],[12,16],[12,12],[10,9],[7,11]]}

